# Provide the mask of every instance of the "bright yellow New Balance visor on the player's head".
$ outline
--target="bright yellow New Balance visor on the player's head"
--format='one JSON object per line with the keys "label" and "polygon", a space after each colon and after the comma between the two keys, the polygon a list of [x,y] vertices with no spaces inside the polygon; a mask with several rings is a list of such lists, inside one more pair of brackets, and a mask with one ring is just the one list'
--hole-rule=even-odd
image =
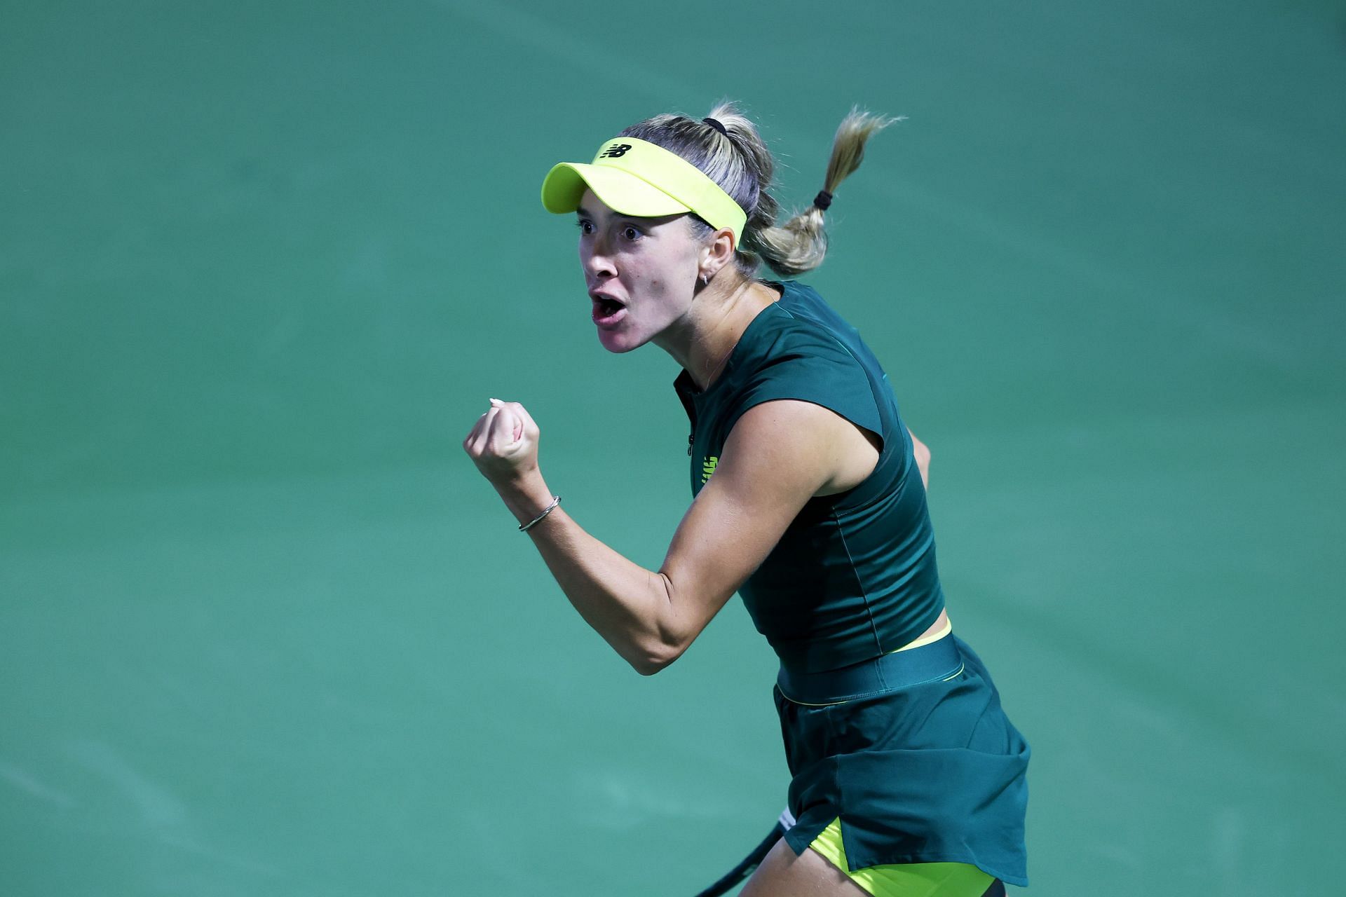
{"label": "bright yellow New Balance visor on the player's head", "polygon": [[700,168],[635,137],[604,141],[587,165],[577,161],[555,165],[542,180],[542,206],[559,215],[575,211],[586,188],[623,215],[658,218],[695,212],[716,230],[732,230],[735,247],[748,219]]}

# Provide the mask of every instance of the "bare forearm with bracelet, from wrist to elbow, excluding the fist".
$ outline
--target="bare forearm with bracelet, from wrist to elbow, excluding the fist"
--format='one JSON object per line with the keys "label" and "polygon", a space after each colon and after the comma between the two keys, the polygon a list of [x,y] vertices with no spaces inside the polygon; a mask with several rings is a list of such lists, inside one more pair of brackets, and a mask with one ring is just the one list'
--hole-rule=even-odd
{"label": "bare forearm with bracelet, from wrist to elbow, excluding the fist", "polygon": [[[521,524],[536,519],[552,500],[540,475],[497,491]],[[561,507],[528,535],[584,621],[637,671],[657,672],[686,647],[662,574],[598,541]]]}

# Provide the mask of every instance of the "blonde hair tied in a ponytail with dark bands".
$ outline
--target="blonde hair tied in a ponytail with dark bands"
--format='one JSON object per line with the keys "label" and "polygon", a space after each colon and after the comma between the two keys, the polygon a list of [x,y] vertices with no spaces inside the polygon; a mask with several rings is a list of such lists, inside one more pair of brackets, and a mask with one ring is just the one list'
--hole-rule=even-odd
{"label": "blonde hair tied in a ponytail with dark bands", "polygon": [[[828,253],[822,212],[830,203],[830,194],[860,167],[864,144],[870,136],[900,121],[852,108],[841,120],[832,141],[832,157],[828,160],[822,192],[814,198],[812,206],[783,225],[777,225],[775,218],[781,207],[767,192],[775,163],[758,134],[756,125],[728,101],[716,105],[707,118],[720,122],[724,133],[707,124],[704,118],[697,121],[686,116],[665,114],[631,125],[622,132],[622,136],[658,144],[677,153],[700,168],[743,207],[748,221],[743,229],[735,265],[744,277],[752,277],[762,262],[785,277],[802,274],[821,265]],[[704,233],[711,233],[709,225],[700,219],[695,221]]]}

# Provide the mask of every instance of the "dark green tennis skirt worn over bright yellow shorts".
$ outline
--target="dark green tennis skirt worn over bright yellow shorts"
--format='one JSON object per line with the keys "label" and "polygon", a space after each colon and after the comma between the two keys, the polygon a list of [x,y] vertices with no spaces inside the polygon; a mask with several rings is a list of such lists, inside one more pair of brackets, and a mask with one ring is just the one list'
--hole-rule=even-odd
{"label": "dark green tennis skirt worn over bright yellow shorts", "polygon": [[852,871],[962,862],[1027,886],[1028,744],[972,648],[949,635],[828,675],[782,671],[775,689],[794,853],[840,818]]}

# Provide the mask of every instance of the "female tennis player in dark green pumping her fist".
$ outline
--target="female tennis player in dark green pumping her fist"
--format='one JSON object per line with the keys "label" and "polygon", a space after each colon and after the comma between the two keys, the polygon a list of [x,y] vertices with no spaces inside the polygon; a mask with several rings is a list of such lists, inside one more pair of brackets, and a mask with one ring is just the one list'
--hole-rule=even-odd
{"label": "female tennis player in dark green pumping her fist", "polygon": [[598,339],[682,367],[693,502],[658,570],[584,531],[540,429],[491,399],[463,442],[567,597],[637,671],[673,663],[739,592],[781,659],[793,827],[747,897],[981,897],[1027,885],[1028,746],[950,631],[917,452],[872,352],[809,286],[822,215],[890,124],[852,112],[824,190],[777,225],[773,161],[732,105],[657,116],[561,163]]}

